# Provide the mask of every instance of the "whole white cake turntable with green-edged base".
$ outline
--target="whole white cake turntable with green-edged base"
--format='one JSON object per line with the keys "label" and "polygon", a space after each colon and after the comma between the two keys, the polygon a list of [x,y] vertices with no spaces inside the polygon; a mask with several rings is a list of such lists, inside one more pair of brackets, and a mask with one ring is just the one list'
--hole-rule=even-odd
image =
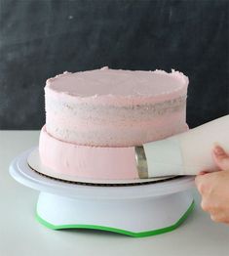
{"label": "whole white cake turntable with green-edged base", "polygon": [[37,164],[36,151],[19,154],[11,163],[10,174],[20,184],[40,192],[36,219],[47,228],[94,229],[135,237],[159,235],[176,229],[194,208],[193,176],[125,184],[69,182],[39,173],[42,166]]}

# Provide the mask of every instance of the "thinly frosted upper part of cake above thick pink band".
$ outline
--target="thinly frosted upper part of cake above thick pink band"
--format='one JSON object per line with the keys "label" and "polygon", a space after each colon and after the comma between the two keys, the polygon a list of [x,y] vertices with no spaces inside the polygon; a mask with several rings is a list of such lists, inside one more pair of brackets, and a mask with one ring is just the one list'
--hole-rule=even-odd
{"label": "thinly frosted upper part of cake above thick pink band", "polygon": [[130,147],[187,128],[188,78],[178,71],[65,72],[47,81],[46,127],[78,145]]}

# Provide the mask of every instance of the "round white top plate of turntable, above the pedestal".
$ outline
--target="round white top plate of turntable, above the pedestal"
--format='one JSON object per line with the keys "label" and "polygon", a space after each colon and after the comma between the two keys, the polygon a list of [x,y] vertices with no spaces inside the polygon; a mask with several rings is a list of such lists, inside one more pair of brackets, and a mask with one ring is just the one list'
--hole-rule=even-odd
{"label": "round white top plate of turntable, above the pedestal", "polygon": [[[32,157],[27,162],[31,152]],[[144,179],[146,181],[143,182],[146,183],[140,185],[136,182],[133,185],[133,180],[125,181],[125,186],[124,184],[120,186],[122,185],[121,181],[116,181],[118,186],[110,187],[103,186],[102,183],[104,181],[97,181],[100,186],[93,186],[96,185],[96,183],[92,183],[93,181],[90,181],[90,185],[69,183],[39,174],[38,172],[41,166],[36,157],[37,149],[24,151],[12,163],[10,172],[19,183],[42,192],[55,192],[57,194],[79,198],[146,198],[184,191],[194,185],[192,176],[153,178],[148,179],[149,181]],[[29,165],[32,165],[36,171]],[[85,183],[86,181],[81,180],[80,182]],[[130,186],[131,184],[132,186]]]}

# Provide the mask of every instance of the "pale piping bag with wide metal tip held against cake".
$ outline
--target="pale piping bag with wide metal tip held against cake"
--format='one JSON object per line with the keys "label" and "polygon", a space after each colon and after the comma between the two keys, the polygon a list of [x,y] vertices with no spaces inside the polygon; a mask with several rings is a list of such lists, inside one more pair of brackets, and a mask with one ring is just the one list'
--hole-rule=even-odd
{"label": "pale piping bag with wide metal tip held against cake", "polygon": [[161,141],[135,147],[140,178],[197,175],[217,170],[211,157],[214,146],[229,153],[229,115]]}

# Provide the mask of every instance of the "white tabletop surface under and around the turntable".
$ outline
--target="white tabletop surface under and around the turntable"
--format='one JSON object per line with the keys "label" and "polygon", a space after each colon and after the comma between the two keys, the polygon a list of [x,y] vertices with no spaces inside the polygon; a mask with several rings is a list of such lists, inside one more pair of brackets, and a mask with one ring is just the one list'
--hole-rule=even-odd
{"label": "white tabletop surface under and around the turntable", "polygon": [[98,231],[52,231],[34,218],[38,192],[13,180],[11,160],[38,144],[37,131],[0,131],[0,255],[229,255],[229,226],[215,224],[200,207],[172,233],[133,238]]}

